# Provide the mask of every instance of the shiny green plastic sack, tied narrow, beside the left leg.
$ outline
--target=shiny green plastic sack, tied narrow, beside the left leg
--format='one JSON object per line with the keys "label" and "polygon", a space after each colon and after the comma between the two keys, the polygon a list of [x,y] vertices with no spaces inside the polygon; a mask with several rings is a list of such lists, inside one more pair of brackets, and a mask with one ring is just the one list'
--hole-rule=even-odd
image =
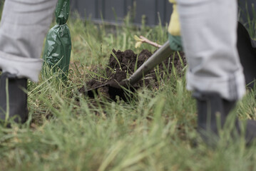
{"label": "shiny green plastic sack, tied narrow, beside the left leg", "polygon": [[70,9],[69,3],[69,0],[58,0],[55,11],[57,25],[48,32],[43,51],[43,66],[48,65],[53,69],[53,73],[61,71],[62,78],[66,78],[68,74],[71,56],[71,35],[66,25]]}

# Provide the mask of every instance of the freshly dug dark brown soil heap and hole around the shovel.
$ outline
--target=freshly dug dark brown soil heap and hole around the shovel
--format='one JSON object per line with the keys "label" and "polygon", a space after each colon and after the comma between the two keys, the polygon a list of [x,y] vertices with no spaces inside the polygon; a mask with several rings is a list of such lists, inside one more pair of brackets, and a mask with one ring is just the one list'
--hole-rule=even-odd
{"label": "freshly dug dark brown soil heap and hole around the shovel", "polygon": [[[185,66],[185,54],[181,51],[179,54]],[[145,61],[147,61],[148,58],[150,58],[150,56],[152,56],[152,53],[150,53],[148,50],[143,50],[139,54],[135,54],[131,50],[115,51],[113,49],[109,58],[108,65],[105,68],[108,79],[92,79],[91,81],[88,81],[86,86],[81,88],[79,91],[93,98],[95,93],[93,94],[91,91],[88,93],[87,90],[97,88],[98,86],[111,83],[113,81],[121,82],[124,79],[129,78],[129,76],[134,73],[135,69],[139,68]],[[150,73],[148,73],[148,75],[146,75],[143,79],[138,81],[138,83],[135,83],[131,90],[133,91],[143,86],[149,88],[158,88],[159,85],[157,78],[159,78],[159,76],[163,78],[163,76],[165,76],[167,73],[171,73],[173,66],[175,66],[178,75],[183,76],[183,65],[180,62],[180,58],[178,53],[175,53],[175,56],[170,56],[165,61],[163,61],[163,63],[160,63],[158,67],[152,69],[152,71],[150,71]],[[168,76],[170,76],[170,74],[168,74]],[[99,92],[101,92],[101,94],[107,98],[111,98],[112,100],[116,100],[117,95],[123,100],[126,100],[127,92],[125,93],[122,89],[118,90],[117,88],[111,88],[110,86],[103,86],[96,89],[96,94]]]}

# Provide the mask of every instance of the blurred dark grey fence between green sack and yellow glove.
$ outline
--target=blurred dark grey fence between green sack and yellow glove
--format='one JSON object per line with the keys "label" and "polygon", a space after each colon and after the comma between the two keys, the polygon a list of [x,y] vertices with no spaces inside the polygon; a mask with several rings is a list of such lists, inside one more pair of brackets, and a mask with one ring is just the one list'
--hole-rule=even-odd
{"label": "blurred dark grey fence between green sack and yellow glove", "polygon": [[130,11],[134,24],[141,24],[145,16],[145,24],[154,26],[168,23],[172,5],[168,0],[71,0],[71,9],[80,16],[93,21],[121,22]]}

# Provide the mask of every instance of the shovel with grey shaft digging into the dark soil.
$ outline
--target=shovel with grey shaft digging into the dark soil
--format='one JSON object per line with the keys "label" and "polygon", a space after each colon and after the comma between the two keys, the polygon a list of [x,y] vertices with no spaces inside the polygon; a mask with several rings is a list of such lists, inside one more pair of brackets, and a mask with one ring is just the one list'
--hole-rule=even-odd
{"label": "shovel with grey shaft digging into the dark soil", "polygon": [[163,46],[161,46],[161,48],[158,49],[158,51],[150,56],[150,58],[148,58],[148,60],[145,61],[145,63],[143,63],[143,65],[140,66],[140,68],[138,68],[137,71],[135,71],[135,73],[130,76],[130,78],[127,78],[119,83],[117,81],[112,81],[96,88],[88,89],[86,90],[87,95],[92,96],[93,91],[96,91],[98,88],[106,86],[114,88],[116,90],[133,86],[133,84],[135,84],[137,81],[140,81],[140,79],[143,78],[143,76],[147,75],[155,66],[168,58],[171,53],[173,53],[173,50],[170,49],[169,41],[167,41]]}

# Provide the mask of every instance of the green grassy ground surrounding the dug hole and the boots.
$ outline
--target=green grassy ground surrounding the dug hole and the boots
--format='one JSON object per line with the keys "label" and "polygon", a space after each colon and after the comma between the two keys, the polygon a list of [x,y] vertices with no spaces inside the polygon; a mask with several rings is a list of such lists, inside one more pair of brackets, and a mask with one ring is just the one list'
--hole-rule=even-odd
{"label": "green grassy ground surrounding the dug hole and the boots", "polygon": [[[166,27],[134,28],[129,17],[115,31],[80,19],[68,25],[68,81],[53,75],[29,82],[29,121],[11,129],[0,125],[0,170],[256,170],[256,146],[245,147],[242,138],[232,141],[224,132],[215,148],[203,143],[184,77],[160,80],[158,90],[143,88],[130,103],[76,95],[95,75],[91,71],[107,63],[112,48],[155,51],[148,45],[135,49],[133,36],[164,43]],[[252,91],[234,114],[256,119],[255,106]]]}

